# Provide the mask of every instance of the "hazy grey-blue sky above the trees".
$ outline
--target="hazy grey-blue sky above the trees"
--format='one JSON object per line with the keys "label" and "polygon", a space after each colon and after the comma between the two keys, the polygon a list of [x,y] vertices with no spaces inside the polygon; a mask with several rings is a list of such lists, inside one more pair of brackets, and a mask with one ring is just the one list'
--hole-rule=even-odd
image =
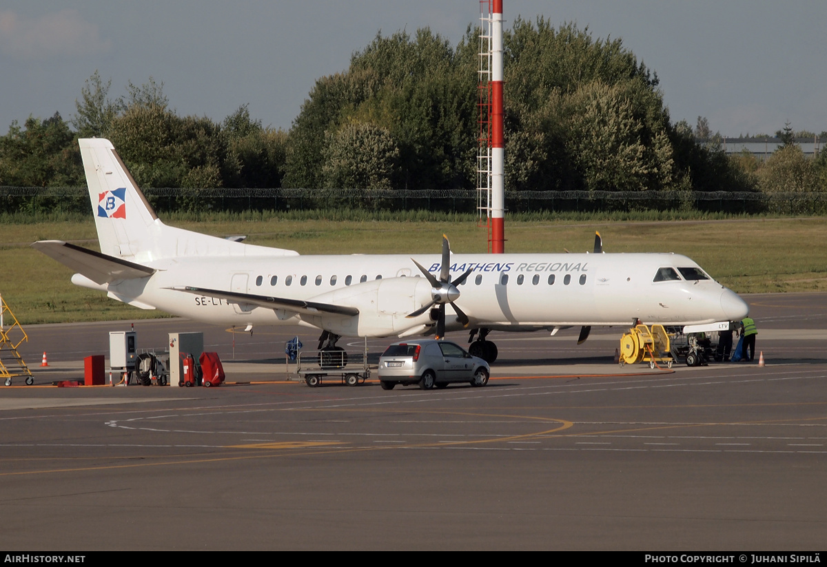
{"label": "hazy grey-blue sky above the trees", "polygon": [[[699,116],[724,136],[827,131],[825,0],[504,0],[517,18],[575,22],[621,38],[657,72],[672,122]],[[480,18],[477,0],[2,0],[0,131],[13,120],[69,120],[98,70],[164,83],[181,116],[216,122],[249,105],[289,129],[316,79],[347,69],[377,33],[430,29],[456,45]]]}

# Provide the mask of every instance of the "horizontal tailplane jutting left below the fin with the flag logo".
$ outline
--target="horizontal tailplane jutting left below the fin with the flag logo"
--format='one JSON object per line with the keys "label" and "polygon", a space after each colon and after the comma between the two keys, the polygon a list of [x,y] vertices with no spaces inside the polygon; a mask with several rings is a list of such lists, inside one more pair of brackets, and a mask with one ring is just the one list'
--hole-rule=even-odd
{"label": "horizontal tailplane jutting left below the fin with the flag logo", "polygon": [[146,278],[155,268],[121,260],[64,241],[37,241],[31,245],[43,254],[69,266],[95,284],[112,284],[122,279]]}

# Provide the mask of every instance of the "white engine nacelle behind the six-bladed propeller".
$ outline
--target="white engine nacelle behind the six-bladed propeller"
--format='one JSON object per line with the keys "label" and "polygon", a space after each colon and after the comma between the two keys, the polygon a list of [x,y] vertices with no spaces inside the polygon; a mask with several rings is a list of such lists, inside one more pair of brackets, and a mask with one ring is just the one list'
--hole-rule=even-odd
{"label": "white engine nacelle behind the six-bladed propeller", "polygon": [[[428,312],[408,314],[431,302],[431,284],[424,278],[375,279],[336,289],[313,298],[320,303],[356,307],[358,315],[336,317],[325,313],[301,319],[343,336],[399,336],[406,331],[425,331],[433,324]],[[421,331],[418,331],[421,329]]]}

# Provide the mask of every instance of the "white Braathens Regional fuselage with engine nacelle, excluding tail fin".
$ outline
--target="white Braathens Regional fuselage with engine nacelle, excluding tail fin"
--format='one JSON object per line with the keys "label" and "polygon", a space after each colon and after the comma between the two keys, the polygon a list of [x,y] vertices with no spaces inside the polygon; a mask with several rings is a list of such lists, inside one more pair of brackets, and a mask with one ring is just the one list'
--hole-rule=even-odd
{"label": "white Braathens Regional fuselage with engine nacelle, excluding tail fin", "polygon": [[[430,285],[406,255],[319,255],[160,260],[149,279],[110,292],[182,317],[227,325],[304,324],[346,336],[399,336],[428,331],[428,313],[406,316],[430,301]],[[439,255],[414,260],[438,276]],[[673,254],[452,255],[451,277],[472,269],[457,306],[471,327],[552,329],[573,325],[700,324],[745,317],[748,306],[713,279],[653,281],[662,267],[697,268]],[[507,281],[506,281],[507,277]],[[350,305],[359,316],[301,315],[183,293],[182,286]],[[121,292],[121,293],[118,293]],[[131,302],[130,302],[131,303]],[[448,330],[461,328],[447,306]],[[423,325],[425,327],[423,327]],[[422,327],[422,328],[420,328]],[[426,328],[427,327],[427,328]]]}

